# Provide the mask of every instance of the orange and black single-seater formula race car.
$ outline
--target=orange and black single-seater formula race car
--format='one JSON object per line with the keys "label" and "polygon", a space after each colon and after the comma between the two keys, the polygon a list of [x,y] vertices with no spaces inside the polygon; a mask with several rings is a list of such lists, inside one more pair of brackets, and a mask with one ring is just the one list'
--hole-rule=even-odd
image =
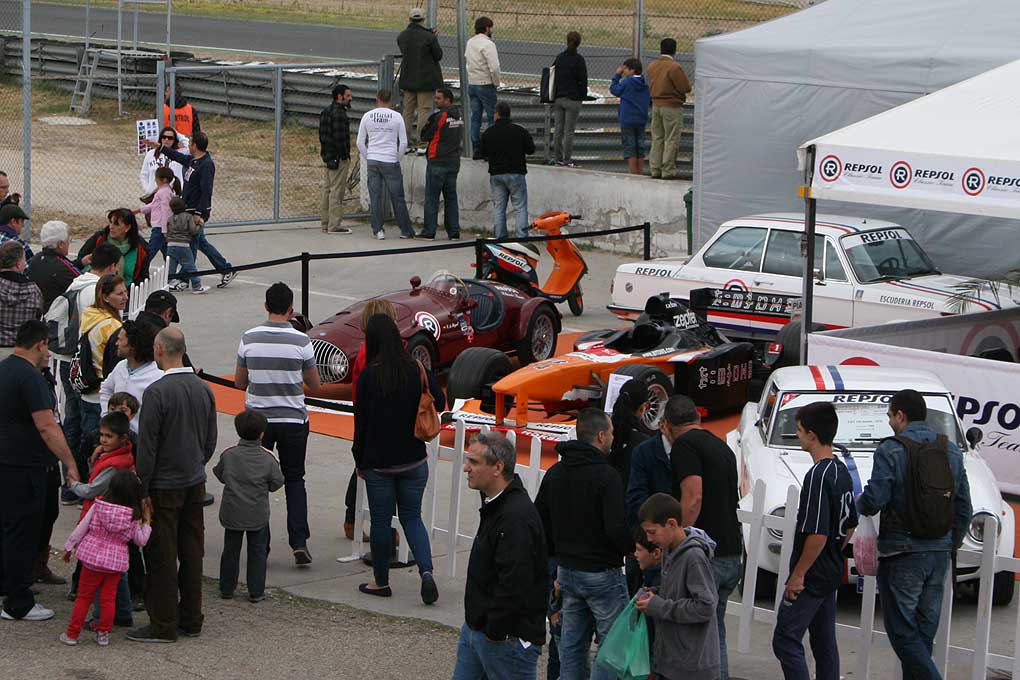
{"label": "orange and black single-seater formula race car", "polygon": [[[516,371],[500,352],[468,349],[453,362],[447,393],[454,400],[479,400],[467,408],[494,414],[497,425],[513,405],[515,422],[524,426],[529,405],[541,405],[547,415],[601,405],[614,382],[640,378],[648,385],[644,424],[654,431],[674,391],[688,395],[710,413],[742,407],[754,371],[749,343],[727,341],[704,318],[662,294],[648,299],[630,328],[586,333],[573,352]],[[454,417],[471,419],[470,413]]]}

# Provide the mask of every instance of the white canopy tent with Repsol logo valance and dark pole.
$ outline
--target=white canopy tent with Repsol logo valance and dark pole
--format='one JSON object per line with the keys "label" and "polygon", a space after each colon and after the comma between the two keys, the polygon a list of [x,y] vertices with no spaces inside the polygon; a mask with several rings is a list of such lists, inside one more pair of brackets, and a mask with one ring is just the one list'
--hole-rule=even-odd
{"label": "white canopy tent with Repsol logo valance and dark pole", "polygon": [[[801,145],[807,357],[819,199],[1020,218],[1020,60]],[[980,234],[974,234],[979,237]]]}

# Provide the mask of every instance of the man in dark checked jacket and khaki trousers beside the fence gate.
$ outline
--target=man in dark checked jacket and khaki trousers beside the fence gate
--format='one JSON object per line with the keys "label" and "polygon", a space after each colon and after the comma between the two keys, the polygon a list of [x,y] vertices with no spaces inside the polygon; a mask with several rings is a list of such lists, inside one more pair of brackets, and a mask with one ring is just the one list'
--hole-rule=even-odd
{"label": "man in dark checked jacket and khaki trousers beside the fence gate", "polygon": [[337,85],[333,89],[333,103],[319,114],[319,155],[325,163],[319,220],[326,233],[351,232],[341,226],[347,173],[351,166],[351,121],[347,117],[351,98],[349,87]]}

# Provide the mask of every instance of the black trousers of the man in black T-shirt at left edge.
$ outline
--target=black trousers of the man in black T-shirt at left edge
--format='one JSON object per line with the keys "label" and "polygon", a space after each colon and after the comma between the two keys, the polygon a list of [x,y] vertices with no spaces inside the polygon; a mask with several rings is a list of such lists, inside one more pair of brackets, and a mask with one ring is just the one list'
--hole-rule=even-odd
{"label": "black trousers of the man in black T-shirt at left edge", "polygon": [[0,591],[3,609],[20,619],[36,606],[32,567],[46,514],[46,468],[0,465]]}

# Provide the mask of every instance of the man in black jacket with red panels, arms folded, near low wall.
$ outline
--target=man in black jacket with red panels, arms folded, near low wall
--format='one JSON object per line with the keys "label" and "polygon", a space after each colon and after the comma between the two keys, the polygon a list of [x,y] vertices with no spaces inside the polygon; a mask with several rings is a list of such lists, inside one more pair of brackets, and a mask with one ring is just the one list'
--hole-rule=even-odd
{"label": "man in black jacket with red panels, arms folded, near low wall", "polygon": [[449,88],[436,91],[436,112],[421,130],[426,146],[425,157],[425,226],[418,239],[435,239],[439,226],[440,195],[445,204],[443,226],[450,241],[460,239],[460,212],[457,206],[457,173],[460,172],[460,150],[464,143],[464,116],[453,105]]}

